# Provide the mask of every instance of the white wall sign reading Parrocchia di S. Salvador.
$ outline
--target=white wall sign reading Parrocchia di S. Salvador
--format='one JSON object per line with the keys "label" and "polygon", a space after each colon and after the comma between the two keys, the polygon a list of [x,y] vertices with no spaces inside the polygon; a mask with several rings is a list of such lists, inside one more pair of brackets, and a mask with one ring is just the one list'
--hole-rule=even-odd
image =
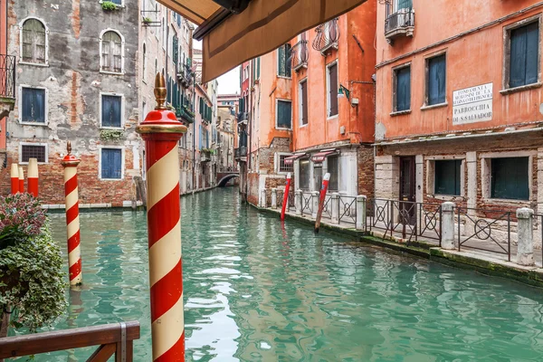
{"label": "white wall sign reading Parrocchia di S. Salvador", "polygon": [[452,125],[492,119],[492,83],[452,92]]}

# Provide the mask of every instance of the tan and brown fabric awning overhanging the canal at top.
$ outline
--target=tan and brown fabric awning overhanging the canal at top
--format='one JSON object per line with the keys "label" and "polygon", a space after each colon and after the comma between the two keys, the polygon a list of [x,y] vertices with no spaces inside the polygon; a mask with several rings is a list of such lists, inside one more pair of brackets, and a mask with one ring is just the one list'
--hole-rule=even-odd
{"label": "tan and brown fabric awning overhanging the canal at top", "polygon": [[297,34],[347,13],[365,1],[252,0],[243,13],[230,14],[212,0],[158,0],[202,25],[196,35],[204,36],[203,82],[271,52]]}

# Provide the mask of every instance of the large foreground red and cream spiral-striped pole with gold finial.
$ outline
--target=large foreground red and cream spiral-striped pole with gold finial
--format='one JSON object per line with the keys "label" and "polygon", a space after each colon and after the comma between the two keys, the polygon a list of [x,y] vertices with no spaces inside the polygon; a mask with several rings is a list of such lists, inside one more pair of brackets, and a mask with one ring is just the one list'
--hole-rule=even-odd
{"label": "large foreground red and cream spiral-striped pole with gold finial", "polygon": [[148,187],[149,285],[153,361],[185,361],[181,206],[177,142],[186,127],[164,105],[166,81],[157,74],[157,108],[136,131],[145,140]]}

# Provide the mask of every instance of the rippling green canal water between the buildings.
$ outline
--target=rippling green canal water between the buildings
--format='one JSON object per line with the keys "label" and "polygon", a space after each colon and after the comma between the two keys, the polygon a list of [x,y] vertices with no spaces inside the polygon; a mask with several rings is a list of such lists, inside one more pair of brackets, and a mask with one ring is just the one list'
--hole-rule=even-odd
{"label": "rippling green canal water between the buildings", "polygon": [[[188,361],[543,359],[541,290],[282,225],[235,188],[181,204]],[[135,360],[151,360],[146,228],[142,212],[81,214],[84,287],[54,329],[136,319]]]}

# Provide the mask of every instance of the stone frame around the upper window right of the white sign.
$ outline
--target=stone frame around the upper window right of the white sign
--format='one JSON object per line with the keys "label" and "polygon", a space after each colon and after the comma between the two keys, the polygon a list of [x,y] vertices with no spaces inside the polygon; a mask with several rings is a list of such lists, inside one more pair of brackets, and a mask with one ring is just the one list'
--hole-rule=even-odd
{"label": "stone frame around the upper window right of the white sign", "polygon": [[[518,87],[510,88],[510,62],[511,62],[511,32],[529,24],[538,23],[538,81],[535,83],[525,84]],[[543,85],[541,82],[541,42],[543,36],[541,31],[543,30],[543,15],[536,14],[529,16],[526,19],[519,20],[518,22],[506,25],[503,27],[503,63],[502,63],[502,79],[501,79],[501,94],[507,94],[517,90],[527,90],[532,88],[538,88]]]}

